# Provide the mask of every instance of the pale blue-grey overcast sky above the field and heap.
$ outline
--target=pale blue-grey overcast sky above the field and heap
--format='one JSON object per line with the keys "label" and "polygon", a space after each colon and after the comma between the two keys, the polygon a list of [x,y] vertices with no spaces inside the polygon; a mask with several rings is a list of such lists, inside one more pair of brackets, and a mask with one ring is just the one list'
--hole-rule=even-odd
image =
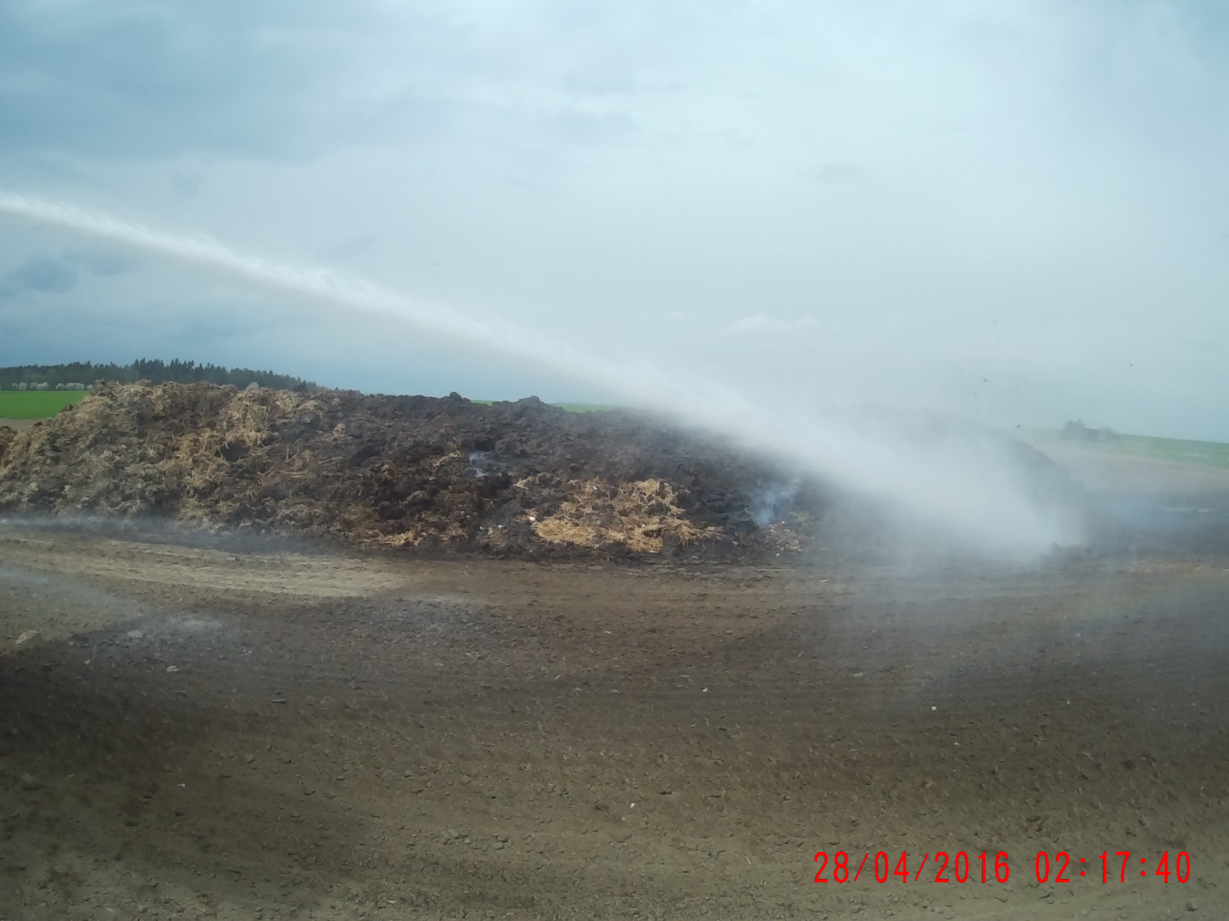
{"label": "pale blue-grey overcast sky above the field and heap", "polygon": [[0,365],[1229,441],[1227,9],[7,0],[0,193],[521,333],[0,215]]}

